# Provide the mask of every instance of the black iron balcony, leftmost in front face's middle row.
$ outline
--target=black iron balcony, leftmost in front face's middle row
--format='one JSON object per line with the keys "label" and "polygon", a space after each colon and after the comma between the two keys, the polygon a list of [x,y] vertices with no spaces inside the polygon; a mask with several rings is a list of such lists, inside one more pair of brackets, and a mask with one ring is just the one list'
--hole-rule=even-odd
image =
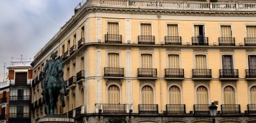
{"label": "black iron balcony, leftmost in front face's middle row", "polygon": [[117,67],[105,67],[104,68],[104,77],[124,77],[123,68]]}

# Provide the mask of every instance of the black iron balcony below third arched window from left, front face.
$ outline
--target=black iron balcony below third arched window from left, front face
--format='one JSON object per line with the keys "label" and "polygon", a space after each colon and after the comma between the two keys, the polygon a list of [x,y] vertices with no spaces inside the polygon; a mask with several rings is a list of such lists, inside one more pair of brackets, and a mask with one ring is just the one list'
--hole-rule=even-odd
{"label": "black iron balcony below third arched window from left, front face", "polygon": [[167,104],[166,114],[173,114],[173,115],[186,114],[186,106],[185,104]]}

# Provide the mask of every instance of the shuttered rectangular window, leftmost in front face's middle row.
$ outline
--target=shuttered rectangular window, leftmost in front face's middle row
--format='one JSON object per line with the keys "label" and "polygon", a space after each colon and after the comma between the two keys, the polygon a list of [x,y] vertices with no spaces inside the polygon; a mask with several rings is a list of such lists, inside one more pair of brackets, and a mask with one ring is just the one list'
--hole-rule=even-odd
{"label": "shuttered rectangular window, leftmost in front face's middle row", "polygon": [[108,53],[108,67],[119,67],[119,54]]}

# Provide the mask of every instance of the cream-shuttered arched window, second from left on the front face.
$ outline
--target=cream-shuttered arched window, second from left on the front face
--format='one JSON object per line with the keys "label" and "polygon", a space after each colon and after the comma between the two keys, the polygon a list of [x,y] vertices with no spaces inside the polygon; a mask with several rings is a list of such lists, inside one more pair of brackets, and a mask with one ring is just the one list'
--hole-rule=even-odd
{"label": "cream-shuttered arched window, second from left on the front face", "polygon": [[154,104],[154,92],[149,85],[146,85],[141,89],[141,103]]}

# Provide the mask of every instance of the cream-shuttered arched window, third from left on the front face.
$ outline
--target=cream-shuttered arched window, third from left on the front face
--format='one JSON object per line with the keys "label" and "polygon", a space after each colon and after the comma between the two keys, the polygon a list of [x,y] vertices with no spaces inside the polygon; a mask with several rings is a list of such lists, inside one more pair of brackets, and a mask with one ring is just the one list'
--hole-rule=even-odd
{"label": "cream-shuttered arched window, third from left on the front face", "polygon": [[172,86],[169,89],[169,103],[181,104],[181,90],[177,86]]}

